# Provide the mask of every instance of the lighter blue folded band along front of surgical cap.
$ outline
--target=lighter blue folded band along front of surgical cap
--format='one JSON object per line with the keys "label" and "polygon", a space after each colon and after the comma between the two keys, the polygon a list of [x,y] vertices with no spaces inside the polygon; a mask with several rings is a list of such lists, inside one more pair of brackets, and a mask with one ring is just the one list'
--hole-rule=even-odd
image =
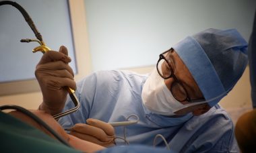
{"label": "lighter blue folded band along front of surgical cap", "polygon": [[226,95],[226,91],[200,44],[189,36],[172,48],[191,72],[207,103],[211,107],[216,105]]}

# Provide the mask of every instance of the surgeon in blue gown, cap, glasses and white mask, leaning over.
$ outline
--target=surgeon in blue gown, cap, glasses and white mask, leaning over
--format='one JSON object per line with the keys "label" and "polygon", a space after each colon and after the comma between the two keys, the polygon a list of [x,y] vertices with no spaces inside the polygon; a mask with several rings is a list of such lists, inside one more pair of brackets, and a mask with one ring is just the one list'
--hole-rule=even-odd
{"label": "surgeon in blue gown, cap, glasses and white mask, leaning over", "polygon": [[[98,71],[75,83],[70,61],[61,46],[59,52],[42,56],[35,74],[43,95],[39,109],[52,115],[73,107],[65,87],[76,89],[81,107],[59,119],[73,136],[88,140],[90,134],[75,127],[87,125],[90,118],[104,122],[139,118],[136,124],[115,127],[115,141],[107,145],[239,152],[232,120],[218,105],[247,66],[247,42],[237,30],[207,29],[188,36],[160,54],[156,67],[145,75]],[[92,142],[97,141],[95,136]]]}

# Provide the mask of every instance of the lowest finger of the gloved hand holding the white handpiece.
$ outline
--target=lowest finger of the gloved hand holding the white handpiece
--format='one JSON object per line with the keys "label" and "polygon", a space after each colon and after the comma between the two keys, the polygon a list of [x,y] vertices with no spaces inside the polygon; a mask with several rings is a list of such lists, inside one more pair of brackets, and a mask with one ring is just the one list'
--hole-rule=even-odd
{"label": "lowest finger of the gloved hand holding the white handpiece", "polygon": [[99,144],[100,146],[104,146],[104,147],[109,147],[109,146],[113,146],[114,143],[114,139],[113,138],[109,138],[107,141],[100,141],[97,138],[95,138],[94,136],[90,136],[90,135],[86,135],[86,134],[82,134],[80,132],[76,132],[76,131],[71,131],[70,132],[71,135],[80,138],[82,140],[86,140],[88,142],[93,142],[94,144]]}

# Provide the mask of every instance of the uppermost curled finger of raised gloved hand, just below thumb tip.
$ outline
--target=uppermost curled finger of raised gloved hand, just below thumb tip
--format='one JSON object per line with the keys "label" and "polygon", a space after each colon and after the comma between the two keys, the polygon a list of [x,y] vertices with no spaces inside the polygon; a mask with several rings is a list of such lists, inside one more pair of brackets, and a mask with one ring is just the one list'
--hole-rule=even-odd
{"label": "uppermost curled finger of raised gloved hand, just below thumb tip", "polygon": [[64,63],[71,62],[71,58],[69,56],[63,54],[62,52],[55,52],[55,51],[48,51],[43,54],[41,60],[38,62],[38,64],[45,64],[47,62],[54,62],[57,60],[61,60]]}

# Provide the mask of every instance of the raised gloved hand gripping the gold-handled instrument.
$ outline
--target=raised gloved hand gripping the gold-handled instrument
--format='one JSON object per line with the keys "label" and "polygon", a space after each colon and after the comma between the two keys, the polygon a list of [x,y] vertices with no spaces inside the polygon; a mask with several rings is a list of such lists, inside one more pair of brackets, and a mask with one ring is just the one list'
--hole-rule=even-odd
{"label": "raised gloved hand gripping the gold-handled instrument", "polygon": [[76,89],[72,68],[68,65],[71,58],[67,56],[67,48],[61,46],[59,52],[44,53],[36,65],[36,79],[40,85],[43,102],[39,109],[51,115],[60,113],[67,99],[67,90]]}

